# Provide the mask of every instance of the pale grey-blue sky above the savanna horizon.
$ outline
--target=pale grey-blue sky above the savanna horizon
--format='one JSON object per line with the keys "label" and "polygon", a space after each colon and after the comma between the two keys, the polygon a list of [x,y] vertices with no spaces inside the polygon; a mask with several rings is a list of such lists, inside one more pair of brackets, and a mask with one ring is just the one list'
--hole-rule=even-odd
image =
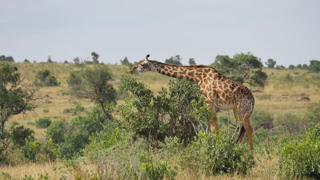
{"label": "pale grey-blue sky above the savanna horizon", "polygon": [[[320,0],[0,0],[0,54],[15,61],[104,63],[180,54],[210,64],[252,52],[264,62],[320,60]],[[91,57],[90,57],[91,58]]]}

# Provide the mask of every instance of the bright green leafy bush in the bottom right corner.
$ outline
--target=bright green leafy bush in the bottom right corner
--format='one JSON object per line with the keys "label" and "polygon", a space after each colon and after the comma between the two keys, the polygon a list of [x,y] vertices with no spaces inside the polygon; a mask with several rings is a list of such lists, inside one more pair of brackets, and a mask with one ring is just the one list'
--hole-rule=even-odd
{"label": "bright green leafy bush in the bottom right corner", "polygon": [[320,178],[320,125],[311,127],[299,142],[283,148],[280,169],[287,178]]}

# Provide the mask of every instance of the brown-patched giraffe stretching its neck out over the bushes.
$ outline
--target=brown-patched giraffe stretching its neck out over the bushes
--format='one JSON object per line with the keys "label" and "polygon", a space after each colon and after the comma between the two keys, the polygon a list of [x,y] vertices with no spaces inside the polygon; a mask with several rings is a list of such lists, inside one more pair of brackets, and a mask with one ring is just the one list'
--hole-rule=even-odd
{"label": "brown-patched giraffe stretching its neck out over the bushes", "polygon": [[154,71],[174,78],[186,78],[197,83],[200,93],[204,95],[206,106],[211,111],[210,129],[218,130],[217,109],[233,110],[235,119],[243,121],[236,141],[242,141],[244,132],[248,137],[251,153],[253,154],[252,132],[250,115],[254,107],[254,97],[251,91],[218,72],[214,67],[207,65],[174,65],[149,60],[145,58],[128,69],[130,74],[135,72]]}

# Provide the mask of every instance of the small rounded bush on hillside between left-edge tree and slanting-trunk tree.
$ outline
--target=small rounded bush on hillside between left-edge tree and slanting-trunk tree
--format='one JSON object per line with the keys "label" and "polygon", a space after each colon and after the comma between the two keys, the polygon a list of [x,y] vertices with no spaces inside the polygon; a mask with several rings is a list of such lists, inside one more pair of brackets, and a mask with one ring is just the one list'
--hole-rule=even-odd
{"label": "small rounded bush on hillside between left-edge tree and slanting-trunk tree", "polygon": [[56,86],[59,84],[55,76],[50,74],[49,70],[37,71],[34,75],[34,78],[34,84],[36,85]]}

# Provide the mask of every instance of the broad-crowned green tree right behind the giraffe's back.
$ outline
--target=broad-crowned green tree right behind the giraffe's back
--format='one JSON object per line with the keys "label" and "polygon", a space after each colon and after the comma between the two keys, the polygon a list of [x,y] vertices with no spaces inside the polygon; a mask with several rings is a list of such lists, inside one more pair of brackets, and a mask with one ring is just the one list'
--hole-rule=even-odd
{"label": "broad-crowned green tree right behind the giraffe's back", "polygon": [[254,90],[263,88],[267,79],[266,73],[262,71],[261,59],[250,52],[235,54],[232,58],[217,55],[211,66],[240,84],[249,84]]}

